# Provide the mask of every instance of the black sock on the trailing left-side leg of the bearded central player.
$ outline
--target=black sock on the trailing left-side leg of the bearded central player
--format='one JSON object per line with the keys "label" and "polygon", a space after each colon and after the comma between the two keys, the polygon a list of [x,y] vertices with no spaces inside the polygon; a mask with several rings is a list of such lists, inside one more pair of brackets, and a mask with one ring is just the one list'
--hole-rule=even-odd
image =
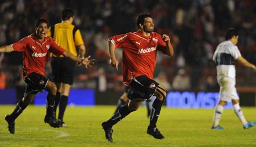
{"label": "black sock on the trailing left-side leg of the bearded central player", "polygon": [[117,112],[107,121],[109,127],[112,127],[117,122],[121,121],[122,118],[130,114],[131,111],[128,109],[128,104],[121,107]]}

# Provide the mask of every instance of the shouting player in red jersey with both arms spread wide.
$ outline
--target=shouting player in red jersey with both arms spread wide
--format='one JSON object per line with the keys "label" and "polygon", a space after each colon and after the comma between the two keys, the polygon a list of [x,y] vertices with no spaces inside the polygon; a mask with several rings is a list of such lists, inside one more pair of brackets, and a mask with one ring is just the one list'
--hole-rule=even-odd
{"label": "shouting player in red jersey with both arms spread wide", "polygon": [[27,83],[23,99],[17,103],[16,108],[10,115],[5,116],[11,134],[15,133],[16,118],[32,102],[38,92],[43,92],[43,89],[48,91],[47,114],[44,117],[44,122],[49,123],[54,128],[60,127],[60,124],[57,123],[56,118],[53,116],[54,98],[57,88],[54,82],[49,81],[44,76],[47,53],[51,52],[57,56],[64,55],[67,58],[86,65],[86,68],[88,66],[91,67],[91,64],[93,64],[94,59],[89,59],[90,56],[81,59],[58,46],[54,39],[46,35],[47,29],[47,20],[37,19],[35,33],[14,44],[0,47],[0,53],[12,51],[23,52],[23,76]]}

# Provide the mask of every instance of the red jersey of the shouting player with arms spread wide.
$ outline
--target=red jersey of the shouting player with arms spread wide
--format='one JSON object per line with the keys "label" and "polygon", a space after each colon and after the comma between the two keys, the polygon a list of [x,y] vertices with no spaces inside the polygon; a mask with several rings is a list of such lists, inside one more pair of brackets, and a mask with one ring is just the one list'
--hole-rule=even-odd
{"label": "red jersey of the shouting player with arms spread wide", "polygon": [[45,36],[44,40],[40,41],[35,34],[31,34],[10,46],[14,48],[14,51],[23,52],[23,73],[27,75],[32,72],[44,75],[47,53],[52,52],[60,56],[65,52],[51,37]]}

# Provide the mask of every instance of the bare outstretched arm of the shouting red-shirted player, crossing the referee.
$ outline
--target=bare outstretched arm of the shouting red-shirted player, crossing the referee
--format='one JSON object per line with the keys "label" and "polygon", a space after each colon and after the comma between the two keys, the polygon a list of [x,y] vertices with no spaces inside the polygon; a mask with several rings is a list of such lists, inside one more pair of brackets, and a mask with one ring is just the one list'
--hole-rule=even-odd
{"label": "bare outstretched arm of the shouting red-shirted player, crossing the referee", "polygon": [[94,64],[94,59],[90,59],[90,55],[84,59],[76,57],[74,54],[70,53],[69,51],[65,51],[63,55],[74,61],[80,62],[83,65],[86,65],[86,68],[88,68],[88,66],[91,67],[91,64]]}

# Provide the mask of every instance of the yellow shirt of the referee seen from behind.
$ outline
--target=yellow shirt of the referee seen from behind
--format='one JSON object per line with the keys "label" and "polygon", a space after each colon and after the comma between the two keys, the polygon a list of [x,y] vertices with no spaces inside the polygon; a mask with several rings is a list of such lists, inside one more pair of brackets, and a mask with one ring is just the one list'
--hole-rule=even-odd
{"label": "yellow shirt of the referee seen from behind", "polygon": [[[64,48],[66,51],[77,56],[76,46],[83,45],[83,39],[80,30],[75,31],[75,37],[73,37],[73,30],[75,26],[69,23],[57,23],[54,25],[54,36],[52,37],[58,45]],[[48,36],[51,36],[51,27],[47,31]],[[52,57],[56,57],[55,54],[51,54]],[[60,57],[63,57],[61,55]]]}

